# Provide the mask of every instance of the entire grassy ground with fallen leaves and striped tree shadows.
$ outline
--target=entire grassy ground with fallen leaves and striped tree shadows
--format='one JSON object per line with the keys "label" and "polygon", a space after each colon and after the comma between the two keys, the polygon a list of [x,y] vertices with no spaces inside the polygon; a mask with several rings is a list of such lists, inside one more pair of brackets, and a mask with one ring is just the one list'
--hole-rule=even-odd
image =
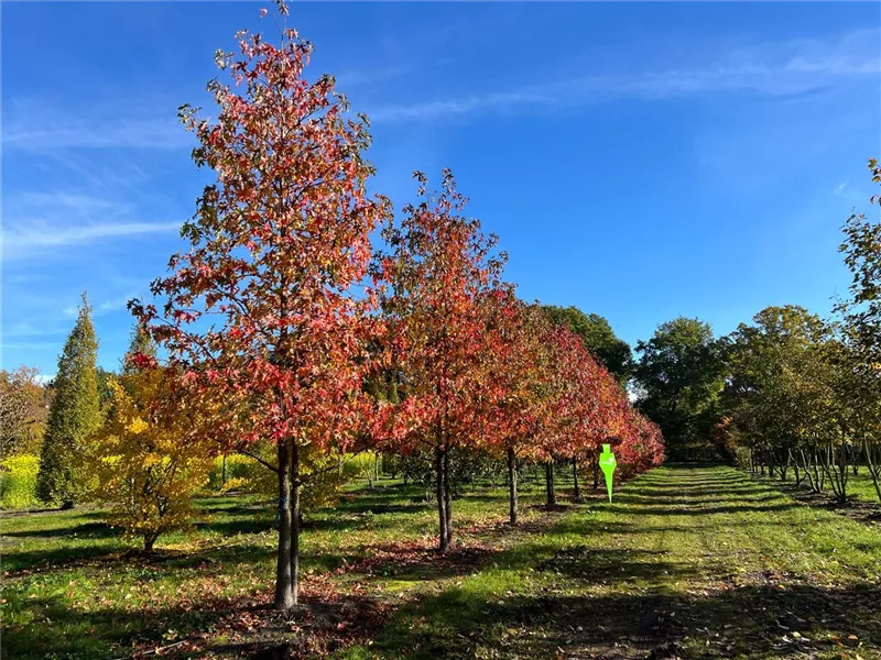
{"label": "entire grassy ground with fallen leaves and striped tree shadows", "polygon": [[[98,512],[0,518],[0,656],[120,658],[881,658],[881,530],[728,468],[667,466],[523,525],[504,492],[454,503],[433,550],[421,490],[390,482],[312,516],[304,608],[268,610],[274,536],[251,498],[155,557]],[[268,650],[269,649],[269,650]]]}

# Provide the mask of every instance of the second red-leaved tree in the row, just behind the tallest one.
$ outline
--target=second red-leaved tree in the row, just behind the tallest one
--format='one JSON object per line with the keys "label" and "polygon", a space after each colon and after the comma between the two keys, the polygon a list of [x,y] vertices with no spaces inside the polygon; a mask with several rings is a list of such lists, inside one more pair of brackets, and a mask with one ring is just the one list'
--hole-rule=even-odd
{"label": "second red-leaved tree in the row, just behind the tallest one", "polygon": [[466,199],[449,170],[439,193],[415,177],[421,201],[385,229],[389,252],[374,266],[400,399],[384,406],[383,432],[403,452],[432,452],[443,551],[453,540],[450,451],[479,441],[498,397],[488,377],[498,341],[488,309],[504,295],[504,255],[493,253],[496,238],[479,221],[460,215]]}

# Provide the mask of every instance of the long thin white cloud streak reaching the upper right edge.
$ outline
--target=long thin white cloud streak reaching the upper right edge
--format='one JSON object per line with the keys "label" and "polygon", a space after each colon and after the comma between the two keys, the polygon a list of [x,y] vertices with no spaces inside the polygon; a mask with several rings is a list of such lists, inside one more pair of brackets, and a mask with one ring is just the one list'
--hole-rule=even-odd
{"label": "long thin white cloud streak reaching the upper right edge", "polygon": [[877,31],[861,30],[837,42],[795,41],[740,48],[716,64],[536,82],[519,89],[390,105],[370,111],[373,121],[424,120],[481,111],[556,110],[620,99],[665,100],[696,95],[754,94],[787,97],[881,73]]}

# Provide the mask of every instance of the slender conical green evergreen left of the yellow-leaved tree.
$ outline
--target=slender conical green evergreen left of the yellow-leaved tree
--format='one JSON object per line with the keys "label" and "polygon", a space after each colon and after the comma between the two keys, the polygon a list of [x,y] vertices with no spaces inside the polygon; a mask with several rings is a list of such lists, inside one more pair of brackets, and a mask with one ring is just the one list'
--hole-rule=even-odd
{"label": "slender conical green evergreen left of the yellow-leaved tree", "polygon": [[76,324],[58,358],[55,397],[40,452],[36,495],[46,504],[73,506],[83,494],[84,479],[76,473],[75,463],[100,424],[97,356],[91,308],[84,295]]}

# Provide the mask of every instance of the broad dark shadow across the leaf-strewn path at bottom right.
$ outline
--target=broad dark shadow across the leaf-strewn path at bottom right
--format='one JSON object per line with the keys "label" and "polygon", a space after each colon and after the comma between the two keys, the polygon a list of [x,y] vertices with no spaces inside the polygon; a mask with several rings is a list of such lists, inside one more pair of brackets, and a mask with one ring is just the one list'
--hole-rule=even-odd
{"label": "broad dark shadow across the leaf-strewn path at bottom right", "polygon": [[[371,647],[382,658],[815,657],[881,651],[877,586],[753,585],[706,596],[492,596],[448,590],[402,607]],[[795,636],[793,631],[798,631]],[[857,639],[849,639],[849,636]],[[833,639],[833,637],[837,639]]]}

